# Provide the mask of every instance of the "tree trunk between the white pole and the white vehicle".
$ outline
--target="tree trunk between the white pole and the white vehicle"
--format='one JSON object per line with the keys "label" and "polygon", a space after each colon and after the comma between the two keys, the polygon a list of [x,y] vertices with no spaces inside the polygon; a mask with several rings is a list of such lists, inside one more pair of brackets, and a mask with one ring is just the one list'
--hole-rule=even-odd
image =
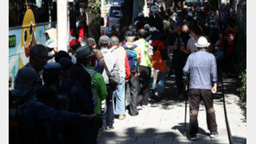
{"label": "tree trunk between the white pole and the white vehicle", "polygon": [[[96,3],[98,0],[92,0],[88,2],[88,5],[90,3]],[[89,30],[89,37],[93,37],[95,41],[98,43],[99,37],[100,37],[100,9],[99,12],[94,12],[92,8],[87,7],[86,13],[88,16],[88,30]]]}

